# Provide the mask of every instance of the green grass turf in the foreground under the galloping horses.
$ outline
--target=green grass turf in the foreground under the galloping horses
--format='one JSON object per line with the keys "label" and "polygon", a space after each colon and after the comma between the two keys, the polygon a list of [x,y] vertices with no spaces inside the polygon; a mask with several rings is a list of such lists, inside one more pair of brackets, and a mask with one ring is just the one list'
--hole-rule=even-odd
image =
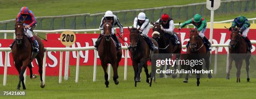
{"label": "green grass turf in the foreground under the galloping horses", "polygon": [[[218,56],[218,73],[225,71],[225,56]],[[213,60],[213,59],[212,59]],[[251,59],[251,64],[255,64],[254,57]],[[213,63],[211,68],[213,68]],[[148,67],[149,71],[151,67]],[[146,83],[145,73],[141,74],[141,82],[134,87],[134,73],[133,68],[128,66],[127,80],[123,80],[123,66],[118,68],[119,85],[115,85],[111,77],[109,88],[105,88],[104,73],[101,66],[97,66],[97,81],[92,82],[93,67],[80,66],[79,67],[79,82],[75,83],[75,66],[70,66],[69,80],[62,78],[62,83],[59,84],[59,77],[46,77],[46,87],[41,89],[39,77],[31,80],[27,76],[26,80],[26,97],[7,97],[12,99],[253,99],[256,92],[256,79],[253,72],[255,67],[251,65],[252,72],[250,73],[251,82],[246,82],[245,66],[242,67],[241,83],[236,83],[235,71],[233,65],[230,73],[230,80],[224,77],[213,74],[212,79],[201,78],[200,86],[196,86],[196,79],[189,78],[189,83],[183,83],[183,78],[164,79],[157,78],[156,82],[149,87]],[[250,70],[250,71],[251,71]],[[36,71],[37,72],[37,71]],[[113,75],[113,72],[111,72]],[[221,74],[221,73],[220,73]],[[217,77],[218,76],[218,77]],[[0,75],[0,82],[3,82],[3,75]],[[0,91],[15,90],[18,84],[18,76],[8,75],[7,85],[1,85]],[[6,97],[0,97],[2,99]]]}

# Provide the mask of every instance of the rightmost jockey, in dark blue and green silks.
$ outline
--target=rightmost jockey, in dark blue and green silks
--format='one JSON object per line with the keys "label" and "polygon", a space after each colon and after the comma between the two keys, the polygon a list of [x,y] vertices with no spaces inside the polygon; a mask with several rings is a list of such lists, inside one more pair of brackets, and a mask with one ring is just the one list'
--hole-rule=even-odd
{"label": "rightmost jockey, in dark blue and green silks", "polygon": [[251,41],[249,40],[249,38],[247,36],[250,26],[251,26],[251,24],[249,23],[248,19],[243,16],[236,17],[231,26],[231,30],[233,30],[233,28],[235,28],[235,27],[240,28],[238,32],[239,32],[239,34],[242,34],[243,38],[246,40],[246,42],[248,44],[248,51],[251,51],[251,49],[252,49]]}

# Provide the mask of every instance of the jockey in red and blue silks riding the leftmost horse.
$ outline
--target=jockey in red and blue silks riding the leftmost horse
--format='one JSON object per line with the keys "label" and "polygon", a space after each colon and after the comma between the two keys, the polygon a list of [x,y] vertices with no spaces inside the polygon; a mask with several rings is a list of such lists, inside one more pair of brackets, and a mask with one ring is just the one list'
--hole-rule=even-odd
{"label": "jockey in red and blue silks riding the leftmost horse", "polygon": [[[18,13],[18,16],[17,16],[17,22],[20,22],[20,21],[23,22],[23,25],[25,26],[24,28],[27,29],[26,35],[33,42],[34,51],[39,52],[38,42],[36,41],[36,39],[32,34],[33,29],[35,29],[36,27],[36,17],[31,10],[28,10],[28,7],[22,7],[20,9],[20,13]],[[13,48],[14,43],[15,43],[15,40],[13,41],[13,43],[10,44],[9,47]]]}

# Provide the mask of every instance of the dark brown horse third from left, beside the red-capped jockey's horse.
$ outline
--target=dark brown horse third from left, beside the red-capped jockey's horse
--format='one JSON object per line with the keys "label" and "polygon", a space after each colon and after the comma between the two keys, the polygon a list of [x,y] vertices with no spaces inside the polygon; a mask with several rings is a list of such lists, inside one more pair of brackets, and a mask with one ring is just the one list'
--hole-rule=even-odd
{"label": "dark brown horse third from left, beside the red-capped jockey's horse", "polygon": [[[140,28],[129,28],[130,31],[130,51],[131,51],[131,59],[133,62],[133,70],[134,70],[134,81],[135,81],[135,87],[137,86],[137,82],[141,82],[141,70],[142,67],[144,68],[144,71],[146,72],[146,82],[149,83],[148,78],[150,79],[150,86],[152,83],[152,76],[148,74],[148,65],[147,61],[151,59],[151,56],[153,56],[154,53],[158,53],[158,50],[151,51],[146,41],[143,39],[141,34],[139,34]],[[155,46],[158,46],[157,42],[151,38]]]}

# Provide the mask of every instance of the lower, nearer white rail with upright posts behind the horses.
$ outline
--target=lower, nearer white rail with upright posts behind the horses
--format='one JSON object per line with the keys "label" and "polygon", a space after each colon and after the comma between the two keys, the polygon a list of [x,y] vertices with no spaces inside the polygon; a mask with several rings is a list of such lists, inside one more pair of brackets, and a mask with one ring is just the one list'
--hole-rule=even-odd
{"label": "lower, nearer white rail with upright posts behind the horses", "polygon": [[[256,41],[253,40],[251,43],[256,44]],[[217,73],[217,53],[218,47],[228,47],[228,44],[212,44],[211,47],[215,47],[215,65],[214,65],[214,73]],[[186,48],[186,45],[182,45],[182,48]],[[122,46],[122,49],[125,50],[125,64],[124,64],[124,80],[127,80],[127,56],[128,56],[128,48],[126,46]],[[59,83],[61,83],[62,78],[62,58],[63,58],[63,51],[77,51],[77,65],[76,65],[76,77],[75,82],[78,82],[79,79],[79,51],[87,51],[87,50],[94,50],[94,68],[93,68],[93,82],[96,81],[96,66],[97,66],[97,50],[94,46],[88,47],[79,47],[79,48],[46,48],[46,51],[60,51],[60,64],[59,64]],[[3,77],[3,86],[6,86],[6,78],[7,78],[7,60],[9,59],[8,52],[11,51],[10,48],[0,48],[0,51],[5,51],[5,65],[4,65],[4,77]],[[228,52],[228,51],[227,51]],[[45,72],[46,72],[46,52],[44,52],[44,60],[43,60],[43,82],[45,83]],[[229,54],[227,55],[228,60]],[[66,64],[66,62],[65,62]],[[228,61],[226,68],[228,68]],[[109,75],[110,75],[110,67],[109,67]],[[65,74],[68,75],[68,74]],[[24,75],[26,76],[26,75]],[[109,76],[110,78],[110,76]]]}

